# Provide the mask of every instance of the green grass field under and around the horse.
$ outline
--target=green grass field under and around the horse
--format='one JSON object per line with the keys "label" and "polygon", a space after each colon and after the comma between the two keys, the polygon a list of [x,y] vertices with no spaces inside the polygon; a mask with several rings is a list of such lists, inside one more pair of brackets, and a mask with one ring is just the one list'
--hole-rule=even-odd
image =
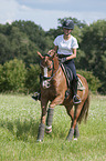
{"label": "green grass field under and around the horse", "polygon": [[0,94],[0,161],[106,161],[106,97],[91,95],[87,123],[67,142],[70,117],[55,107],[53,132],[36,143],[40,102],[30,95]]}

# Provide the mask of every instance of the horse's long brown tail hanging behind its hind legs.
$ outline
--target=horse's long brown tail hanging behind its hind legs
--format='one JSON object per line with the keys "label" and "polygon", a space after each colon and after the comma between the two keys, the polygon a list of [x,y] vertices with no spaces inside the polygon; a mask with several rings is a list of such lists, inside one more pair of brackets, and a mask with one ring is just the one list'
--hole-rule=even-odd
{"label": "horse's long brown tail hanging behind its hind legs", "polygon": [[89,109],[89,93],[88,93],[87,99],[85,100],[85,102],[83,104],[81,114],[77,119],[78,123],[81,123],[83,119],[86,122],[87,117],[88,117],[88,109]]}

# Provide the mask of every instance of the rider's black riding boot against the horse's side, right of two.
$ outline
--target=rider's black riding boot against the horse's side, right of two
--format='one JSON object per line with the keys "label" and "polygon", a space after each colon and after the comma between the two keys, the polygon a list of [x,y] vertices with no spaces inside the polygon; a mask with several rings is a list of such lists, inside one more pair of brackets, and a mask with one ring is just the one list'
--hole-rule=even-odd
{"label": "rider's black riding boot against the horse's side, right of two", "polygon": [[74,104],[78,104],[81,103],[81,99],[77,95],[77,80],[73,80],[72,88],[73,88],[73,102]]}

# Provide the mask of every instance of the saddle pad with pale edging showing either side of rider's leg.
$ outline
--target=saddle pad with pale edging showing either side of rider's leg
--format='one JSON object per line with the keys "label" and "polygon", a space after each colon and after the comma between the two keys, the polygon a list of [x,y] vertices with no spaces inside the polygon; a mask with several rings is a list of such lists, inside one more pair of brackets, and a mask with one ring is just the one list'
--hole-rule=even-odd
{"label": "saddle pad with pale edging showing either side of rider's leg", "polygon": [[[62,68],[63,72],[64,72],[64,76],[65,76],[65,78],[66,78],[67,88],[70,88],[70,87],[71,87],[71,82],[72,82],[72,80],[73,80],[73,72],[72,72],[72,70],[71,70],[68,67],[66,67],[66,66],[63,64],[63,63],[61,63],[61,68]],[[77,77],[77,78],[78,78],[78,77]],[[78,78],[78,81],[77,81],[77,90],[83,91],[84,89],[85,89],[85,88],[84,88],[84,85],[83,85],[81,79]]]}

